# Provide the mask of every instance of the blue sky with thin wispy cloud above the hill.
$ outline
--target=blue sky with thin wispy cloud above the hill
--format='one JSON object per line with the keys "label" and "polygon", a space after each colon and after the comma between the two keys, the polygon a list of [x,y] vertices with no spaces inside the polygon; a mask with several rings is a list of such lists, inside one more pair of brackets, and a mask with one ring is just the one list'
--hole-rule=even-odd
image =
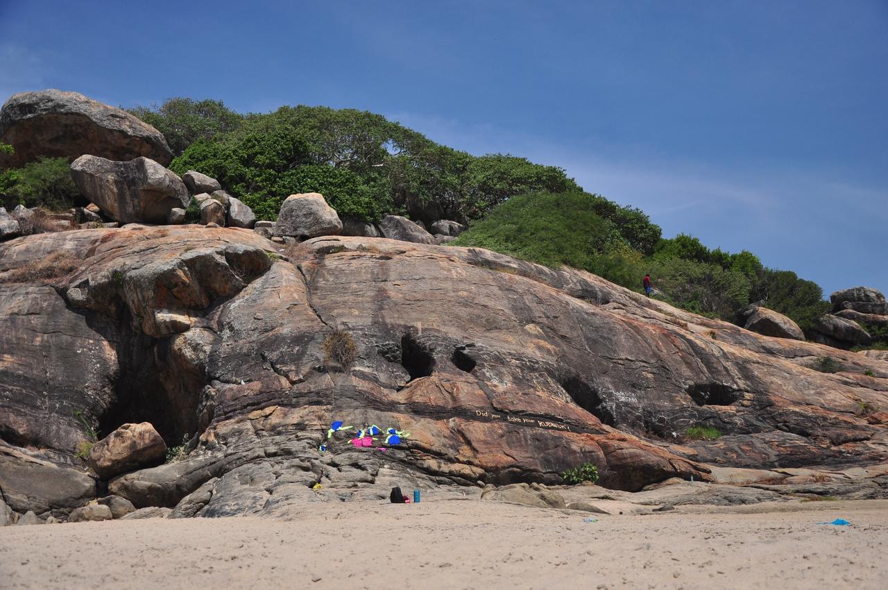
{"label": "blue sky with thin wispy cloud above the hill", "polygon": [[43,88],[368,109],[827,295],[888,292],[886,0],[0,0],[0,100]]}

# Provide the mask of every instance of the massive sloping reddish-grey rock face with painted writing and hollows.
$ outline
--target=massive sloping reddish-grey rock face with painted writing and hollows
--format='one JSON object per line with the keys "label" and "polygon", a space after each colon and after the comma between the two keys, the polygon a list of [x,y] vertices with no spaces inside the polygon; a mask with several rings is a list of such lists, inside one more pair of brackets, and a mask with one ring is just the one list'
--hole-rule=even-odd
{"label": "massive sloping reddish-grey rock face with painted writing and hollows", "polygon": [[[4,284],[7,269],[60,247],[82,268]],[[277,247],[182,226],[0,245],[0,436],[74,464],[75,412],[101,433],[150,421],[193,450],[109,492],[203,516],[289,514],[390,484],[554,483],[586,462],[604,485],[639,490],[715,481],[708,464],[888,459],[888,425],[868,422],[888,395],[884,360],[484,250],[339,236],[289,259]],[[841,372],[811,368],[826,355]],[[391,427],[400,442],[328,438],[337,420]],[[691,440],[694,426],[722,436]]]}

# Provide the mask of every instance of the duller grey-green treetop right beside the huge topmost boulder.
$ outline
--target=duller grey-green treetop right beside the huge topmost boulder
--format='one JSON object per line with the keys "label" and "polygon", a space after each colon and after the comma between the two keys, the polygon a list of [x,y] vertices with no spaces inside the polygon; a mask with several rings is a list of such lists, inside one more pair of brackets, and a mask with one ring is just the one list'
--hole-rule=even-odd
{"label": "duller grey-green treetop right beside the huge topmost boulder", "polygon": [[197,140],[212,140],[220,133],[231,132],[241,124],[243,116],[227,108],[221,100],[175,98],[163,105],[129,109],[145,123],[163,133],[174,155]]}

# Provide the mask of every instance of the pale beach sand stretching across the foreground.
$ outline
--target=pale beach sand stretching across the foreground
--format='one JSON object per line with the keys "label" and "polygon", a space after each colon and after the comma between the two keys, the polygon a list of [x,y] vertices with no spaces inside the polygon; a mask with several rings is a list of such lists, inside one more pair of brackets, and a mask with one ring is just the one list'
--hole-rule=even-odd
{"label": "pale beach sand stretching across the foreground", "polygon": [[[888,500],[604,515],[431,499],[5,527],[0,588],[888,587]],[[852,526],[816,524],[835,518]]]}

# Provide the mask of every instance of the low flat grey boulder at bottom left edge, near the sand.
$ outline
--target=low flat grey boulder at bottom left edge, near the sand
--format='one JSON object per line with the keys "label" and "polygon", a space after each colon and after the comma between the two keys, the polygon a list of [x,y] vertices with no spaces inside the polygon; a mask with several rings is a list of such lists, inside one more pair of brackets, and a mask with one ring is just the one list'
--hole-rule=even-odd
{"label": "low flat grey boulder at bottom left edge, near the sand", "polygon": [[77,469],[0,454],[0,490],[12,510],[65,511],[95,498],[96,482]]}

